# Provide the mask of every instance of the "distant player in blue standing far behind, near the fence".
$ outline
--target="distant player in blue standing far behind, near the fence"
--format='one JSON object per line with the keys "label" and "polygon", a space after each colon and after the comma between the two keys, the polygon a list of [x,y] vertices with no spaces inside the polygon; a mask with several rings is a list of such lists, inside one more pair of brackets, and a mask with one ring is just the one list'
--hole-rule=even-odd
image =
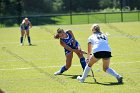
{"label": "distant player in blue standing far behind, near the fence", "polygon": [[31,38],[30,38],[30,35],[29,35],[29,29],[30,28],[32,28],[31,22],[28,20],[28,18],[24,18],[21,25],[20,25],[20,30],[21,30],[20,44],[21,45],[23,45],[24,35],[25,35],[25,38],[26,38],[26,35],[27,35],[28,43],[29,43],[29,45],[32,45],[31,44]]}

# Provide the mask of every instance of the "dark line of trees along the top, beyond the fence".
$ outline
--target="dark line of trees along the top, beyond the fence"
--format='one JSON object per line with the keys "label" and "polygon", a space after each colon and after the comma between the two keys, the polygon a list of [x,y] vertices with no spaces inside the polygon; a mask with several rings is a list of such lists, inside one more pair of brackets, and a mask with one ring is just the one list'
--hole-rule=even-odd
{"label": "dark line of trees along the top, beyond the fence", "polygon": [[140,0],[0,0],[0,16],[140,9]]}

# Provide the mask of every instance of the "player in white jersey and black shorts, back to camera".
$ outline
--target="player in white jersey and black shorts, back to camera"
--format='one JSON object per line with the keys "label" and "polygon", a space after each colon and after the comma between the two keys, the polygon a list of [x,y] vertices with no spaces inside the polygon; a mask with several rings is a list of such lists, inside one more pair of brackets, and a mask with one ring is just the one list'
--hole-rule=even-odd
{"label": "player in white jersey and black shorts, back to camera", "polygon": [[[82,77],[78,76],[77,79],[80,82],[84,82],[87,77],[92,65],[98,60],[102,59],[103,61],[103,70],[110,75],[114,76],[119,84],[122,84],[123,77],[119,75],[115,70],[109,67],[111,56],[111,48],[108,44],[108,38],[105,34],[100,31],[98,24],[94,24],[91,27],[93,34],[88,38],[88,54],[87,62]],[[90,58],[90,54],[93,53],[93,56]]]}

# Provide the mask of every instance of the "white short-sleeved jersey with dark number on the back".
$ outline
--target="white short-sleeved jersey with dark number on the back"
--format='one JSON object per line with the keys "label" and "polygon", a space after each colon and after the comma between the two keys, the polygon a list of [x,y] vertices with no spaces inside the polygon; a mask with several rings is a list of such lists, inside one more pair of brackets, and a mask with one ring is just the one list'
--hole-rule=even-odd
{"label": "white short-sleeved jersey with dark number on the back", "polygon": [[108,38],[103,33],[94,33],[88,38],[88,43],[93,45],[92,51],[93,53],[99,51],[109,51],[111,52],[111,48],[108,44]]}

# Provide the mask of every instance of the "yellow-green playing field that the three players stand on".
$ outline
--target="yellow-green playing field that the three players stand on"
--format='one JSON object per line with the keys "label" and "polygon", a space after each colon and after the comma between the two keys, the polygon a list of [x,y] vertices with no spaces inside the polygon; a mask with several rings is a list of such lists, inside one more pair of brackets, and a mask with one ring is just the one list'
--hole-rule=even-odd
{"label": "yellow-green playing field that the three players stand on", "polygon": [[[34,26],[33,46],[19,45],[19,27],[0,28],[0,88],[6,93],[140,93],[140,23],[100,24],[109,33],[112,47],[111,67],[124,77],[124,84],[102,71],[102,62],[92,67],[99,84],[89,76],[85,83],[76,80],[82,74],[79,59],[63,75],[53,73],[65,64],[63,48],[52,33],[58,28],[71,29],[82,49],[87,48],[91,24]],[[91,73],[90,73],[91,75]]]}

